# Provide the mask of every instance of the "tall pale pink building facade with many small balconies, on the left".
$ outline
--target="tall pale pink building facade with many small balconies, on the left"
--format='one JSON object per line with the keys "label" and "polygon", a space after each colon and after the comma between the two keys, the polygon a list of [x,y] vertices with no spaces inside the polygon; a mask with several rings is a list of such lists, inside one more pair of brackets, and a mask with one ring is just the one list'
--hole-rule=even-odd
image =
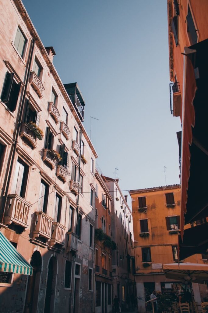
{"label": "tall pale pink building facade with many small balconies, on the left", "polygon": [[85,102],[22,2],[0,4],[0,231],[33,267],[0,272],[0,312],[91,312],[97,153]]}

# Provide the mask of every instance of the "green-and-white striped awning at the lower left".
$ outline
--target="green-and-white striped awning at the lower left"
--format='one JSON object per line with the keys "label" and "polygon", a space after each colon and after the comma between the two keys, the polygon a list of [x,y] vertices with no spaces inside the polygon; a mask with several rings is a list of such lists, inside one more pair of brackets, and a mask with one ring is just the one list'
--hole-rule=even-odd
{"label": "green-and-white striped awning at the lower left", "polygon": [[0,232],[0,271],[32,275],[32,266]]}

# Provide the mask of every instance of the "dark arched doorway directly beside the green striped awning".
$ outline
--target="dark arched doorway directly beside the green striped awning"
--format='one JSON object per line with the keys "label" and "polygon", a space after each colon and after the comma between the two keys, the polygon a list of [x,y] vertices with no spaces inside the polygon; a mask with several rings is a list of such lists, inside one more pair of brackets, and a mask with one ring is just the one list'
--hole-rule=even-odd
{"label": "dark arched doorway directly beside the green striped awning", "polygon": [[30,264],[33,267],[33,275],[28,277],[24,313],[37,312],[42,267],[42,258],[39,251],[32,254]]}

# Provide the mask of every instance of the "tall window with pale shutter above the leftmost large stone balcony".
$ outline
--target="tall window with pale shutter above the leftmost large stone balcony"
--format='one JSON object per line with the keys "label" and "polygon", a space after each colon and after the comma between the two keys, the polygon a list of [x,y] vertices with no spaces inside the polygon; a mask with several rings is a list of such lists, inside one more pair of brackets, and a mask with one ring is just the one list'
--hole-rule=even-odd
{"label": "tall window with pale shutter above the leftmost large stone balcony", "polygon": [[25,198],[28,171],[29,167],[21,159],[18,158],[16,168],[13,174],[12,192],[16,193],[22,198]]}

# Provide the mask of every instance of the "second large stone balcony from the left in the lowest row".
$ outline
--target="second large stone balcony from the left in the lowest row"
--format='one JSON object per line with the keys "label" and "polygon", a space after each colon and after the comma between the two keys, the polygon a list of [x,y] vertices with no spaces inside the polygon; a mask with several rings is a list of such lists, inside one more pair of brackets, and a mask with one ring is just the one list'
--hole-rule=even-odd
{"label": "second large stone balcony from the left in the lowest row", "polygon": [[37,223],[35,230],[33,231],[33,238],[43,237],[46,239],[51,239],[51,229],[53,218],[48,216],[46,213],[42,211],[35,212]]}

